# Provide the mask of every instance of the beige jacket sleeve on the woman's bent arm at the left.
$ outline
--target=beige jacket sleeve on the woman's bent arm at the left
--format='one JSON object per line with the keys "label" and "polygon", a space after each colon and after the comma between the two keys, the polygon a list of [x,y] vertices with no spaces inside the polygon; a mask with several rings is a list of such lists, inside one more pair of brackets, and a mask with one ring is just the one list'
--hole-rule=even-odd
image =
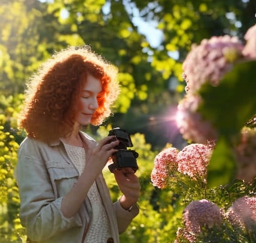
{"label": "beige jacket sleeve on the woman's bent arm at the left", "polygon": [[19,217],[31,240],[45,240],[62,230],[81,226],[78,213],[65,218],[60,210],[62,197],[56,198],[45,164],[40,158],[19,149],[16,180],[20,195]]}

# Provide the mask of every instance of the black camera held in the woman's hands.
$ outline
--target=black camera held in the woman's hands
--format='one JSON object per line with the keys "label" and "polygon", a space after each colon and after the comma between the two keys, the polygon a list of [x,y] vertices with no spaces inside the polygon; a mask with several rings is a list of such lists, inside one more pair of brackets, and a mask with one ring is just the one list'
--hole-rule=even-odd
{"label": "black camera held in the woman's hands", "polygon": [[113,163],[108,165],[108,169],[110,172],[113,172],[115,168],[131,167],[133,171],[136,172],[138,169],[136,161],[138,153],[135,150],[127,149],[127,147],[133,146],[128,132],[116,127],[108,132],[108,136],[112,135],[116,136],[116,139],[119,140],[119,144],[114,147],[118,149],[118,151],[111,155]]}

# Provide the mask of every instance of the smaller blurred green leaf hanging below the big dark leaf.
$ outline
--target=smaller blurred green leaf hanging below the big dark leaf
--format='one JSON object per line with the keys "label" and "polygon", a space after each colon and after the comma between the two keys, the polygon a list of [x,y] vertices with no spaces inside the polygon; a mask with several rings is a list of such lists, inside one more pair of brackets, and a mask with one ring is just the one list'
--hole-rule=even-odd
{"label": "smaller blurred green leaf hanging below the big dark leaf", "polygon": [[231,143],[225,138],[220,137],[212,152],[207,172],[207,184],[214,187],[220,184],[229,183],[236,170],[236,159]]}

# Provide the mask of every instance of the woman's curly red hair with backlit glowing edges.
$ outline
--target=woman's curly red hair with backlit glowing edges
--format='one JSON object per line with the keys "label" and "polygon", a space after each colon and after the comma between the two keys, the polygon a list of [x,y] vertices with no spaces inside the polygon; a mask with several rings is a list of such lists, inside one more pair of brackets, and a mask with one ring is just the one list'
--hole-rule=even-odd
{"label": "woman's curly red hair with backlit glowing edges", "polygon": [[117,68],[89,46],[70,46],[54,53],[28,80],[19,126],[28,136],[44,141],[70,134],[88,73],[101,80],[98,108],[90,121],[92,125],[101,124],[111,114],[119,93]]}

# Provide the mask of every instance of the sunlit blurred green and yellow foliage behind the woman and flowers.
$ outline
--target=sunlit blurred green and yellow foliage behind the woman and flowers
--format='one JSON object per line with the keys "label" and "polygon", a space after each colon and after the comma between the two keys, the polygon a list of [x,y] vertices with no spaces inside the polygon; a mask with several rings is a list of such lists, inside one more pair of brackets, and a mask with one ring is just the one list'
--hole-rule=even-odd
{"label": "sunlit blurred green and yellow foliage behind the woman and flowers", "polygon": [[[182,145],[174,127],[162,117],[183,95],[181,64],[191,44],[225,33],[242,38],[255,22],[254,4],[253,0],[1,0],[0,242],[26,242],[14,179],[18,144],[25,136],[16,125],[24,82],[54,50],[82,44],[91,45],[119,68],[122,86],[115,115],[104,126],[91,127],[91,134],[100,138],[109,127],[123,127],[132,134],[139,153],[141,212],[121,242],[173,242],[183,205],[192,198],[184,201],[183,191],[158,190],[150,183],[154,156],[166,143]],[[138,16],[162,32],[157,46],[141,33],[135,22]],[[177,84],[170,89],[171,80]],[[114,200],[119,196],[116,184],[112,174],[104,173]],[[224,192],[214,193],[221,198]]]}

